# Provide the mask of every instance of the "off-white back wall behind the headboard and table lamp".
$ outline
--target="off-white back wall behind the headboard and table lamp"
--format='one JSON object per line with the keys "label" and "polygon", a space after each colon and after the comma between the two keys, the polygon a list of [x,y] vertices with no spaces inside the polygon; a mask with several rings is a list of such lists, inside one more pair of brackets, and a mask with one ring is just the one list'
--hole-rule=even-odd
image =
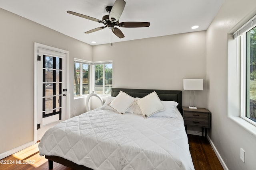
{"label": "off-white back wall behind the headboard and table lamp", "polygon": [[[93,46],[94,61],[113,61],[113,87],[183,90],[184,78],[203,78],[206,88],[206,31]],[[197,106],[206,107],[206,90]],[[189,92],[182,92],[189,106]]]}

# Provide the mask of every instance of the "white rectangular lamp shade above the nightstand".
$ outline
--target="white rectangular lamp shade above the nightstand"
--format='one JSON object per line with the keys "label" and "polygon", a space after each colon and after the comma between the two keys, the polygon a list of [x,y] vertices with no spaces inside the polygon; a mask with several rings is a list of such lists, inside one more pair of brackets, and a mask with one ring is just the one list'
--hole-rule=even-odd
{"label": "white rectangular lamp shade above the nightstand", "polygon": [[183,79],[184,90],[204,90],[203,79]]}

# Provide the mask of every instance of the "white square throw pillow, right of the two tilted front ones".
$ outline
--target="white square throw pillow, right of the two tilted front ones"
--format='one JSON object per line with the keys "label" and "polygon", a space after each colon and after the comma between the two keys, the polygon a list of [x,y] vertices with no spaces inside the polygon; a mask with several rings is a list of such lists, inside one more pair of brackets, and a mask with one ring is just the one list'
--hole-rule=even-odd
{"label": "white square throw pillow, right of the two tilted front ones", "polygon": [[157,113],[158,111],[165,110],[165,107],[161,103],[156,92],[152,92],[147,96],[145,96],[144,98],[136,100],[136,103],[140,107],[141,113],[144,118],[148,118],[154,113]]}

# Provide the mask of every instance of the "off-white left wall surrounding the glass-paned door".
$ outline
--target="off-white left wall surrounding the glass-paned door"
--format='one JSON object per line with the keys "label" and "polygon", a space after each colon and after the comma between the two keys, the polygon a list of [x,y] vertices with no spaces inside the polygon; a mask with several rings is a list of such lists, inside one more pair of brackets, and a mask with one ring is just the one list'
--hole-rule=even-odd
{"label": "off-white left wall surrounding the glass-paned door", "polygon": [[0,154],[33,141],[34,42],[70,51],[70,115],[86,109],[73,100],[74,57],[92,61],[92,46],[0,8]]}

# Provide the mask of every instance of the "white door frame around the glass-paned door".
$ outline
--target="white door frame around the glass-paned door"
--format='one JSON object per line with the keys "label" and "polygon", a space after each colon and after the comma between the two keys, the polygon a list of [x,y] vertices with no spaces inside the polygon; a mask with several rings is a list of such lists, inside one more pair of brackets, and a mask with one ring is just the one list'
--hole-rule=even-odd
{"label": "white door frame around the glass-paned door", "polygon": [[66,60],[66,83],[67,83],[67,89],[68,92],[66,94],[66,100],[67,100],[67,108],[66,108],[66,119],[69,118],[69,51],[66,50],[62,50],[62,49],[58,49],[55,47],[51,47],[48,45],[44,45],[44,44],[40,44],[40,43],[34,43],[34,144],[37,142],[37,109],[38,109],[38,61],[37,61],[37,57],[38,57],[38,48],[42,48],[42,49],[46,49],[46,50],[50,50],[50,51],[56,51],[59,53],[64,53],[66,54],[65,60]]}

